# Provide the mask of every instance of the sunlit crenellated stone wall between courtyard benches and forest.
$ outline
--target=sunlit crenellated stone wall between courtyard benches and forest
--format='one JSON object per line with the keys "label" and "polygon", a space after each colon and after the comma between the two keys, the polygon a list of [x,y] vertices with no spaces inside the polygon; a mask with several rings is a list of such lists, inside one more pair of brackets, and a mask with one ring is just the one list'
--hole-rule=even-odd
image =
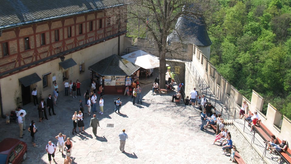
{"label": "sunlit crenellated stone wall between courtyard benches and forest", "polygon": [[[199,57],[197,55],[199,54]],[[185,92],[189,93],[193,87],[201,87],[201,81],[203,79],[207,87],[212,91],[212,94],[225,105],[226,108],[235,108],[239,111],[241,104],[246,100],[249,104],[249,109],[252,112],[257,111],[261,116],[262,123],[281,140],[286,138],[291,142],[291,121],[282,116],[272,104],[268,104],[266,115],[261,111],[263,110],[264,98],[253,90],[251,101],[247,100],[235,87],[233,87],[224,77],[217,72],[216,68],[206,59],[201,53],[198,47],[196,47],[196,53],[193,56],[192,63],[185,63]],[[195,67],[193,69],[192,67]],[[197,71],[197,73],[196,73]],[[198,75],[197,75],[198,74]],[[199,79],[200,78],[200,79]],[[203,86],[202,86],[203,87]],[[238,118],[238,112],[236,113]],[[282,118],[282,119],[281,119]],[[282,122],[282,124],[281,124]],[[281,124],[281,125],[280,125]]]}

